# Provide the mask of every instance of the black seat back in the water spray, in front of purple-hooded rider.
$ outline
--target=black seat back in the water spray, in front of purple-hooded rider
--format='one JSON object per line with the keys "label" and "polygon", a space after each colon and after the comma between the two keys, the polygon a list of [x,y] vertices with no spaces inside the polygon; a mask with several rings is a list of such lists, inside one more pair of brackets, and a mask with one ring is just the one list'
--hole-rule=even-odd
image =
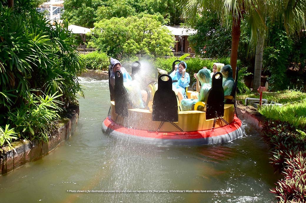
{"label": "black seat back in the water spray, in front of purple-hooded rider", "polygon": [[114,101],[116,114],[128,115],[128,93],[123,86],[123,76],[120,70],[115,73]]}

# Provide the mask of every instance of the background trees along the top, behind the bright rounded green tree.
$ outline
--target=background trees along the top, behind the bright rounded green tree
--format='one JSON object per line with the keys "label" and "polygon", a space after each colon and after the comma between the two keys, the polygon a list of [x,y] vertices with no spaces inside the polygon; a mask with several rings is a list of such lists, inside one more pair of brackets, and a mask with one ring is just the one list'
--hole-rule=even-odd
{"label": "background trees along the top, behind the bright rounded green tree", "polygon": [[159,15],[163,24],[182,22],[181,11],[176,11],[173,0],[66,0],[62,19],[70,24],[93,28],[93,24],[112,17],[131,17],[136,15]]}

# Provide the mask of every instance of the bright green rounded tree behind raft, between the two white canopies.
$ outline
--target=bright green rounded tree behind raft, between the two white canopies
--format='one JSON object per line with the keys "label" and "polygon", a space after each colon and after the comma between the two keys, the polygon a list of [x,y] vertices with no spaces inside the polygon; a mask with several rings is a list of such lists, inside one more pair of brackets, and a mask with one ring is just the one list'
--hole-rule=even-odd
{"label": "bright green rounded tree behind raft, between the two white canopies", "polygon": [[111,18],[95,24],[89,34],[89,46],[96,47],[107,55],[149,56],[172,55],[170,46],[174,39],[169,30],[162,27],[157,16]]}

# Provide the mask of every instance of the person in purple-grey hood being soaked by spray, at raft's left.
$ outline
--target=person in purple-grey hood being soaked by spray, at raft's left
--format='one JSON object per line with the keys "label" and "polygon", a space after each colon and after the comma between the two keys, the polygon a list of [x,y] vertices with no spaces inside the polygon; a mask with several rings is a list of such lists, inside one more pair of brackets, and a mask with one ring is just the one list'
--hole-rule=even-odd
{"label": "person in purple-grey hood being soaked by spray, at raft's left", "polygon": [[121,67],[120,61],[110,57],[110,65],[112,66],[112,71],[110,73],[110,85],[113,88],[115,87],[115,73],[117,70],[120,70],[123,77],[123,85],[128,92],[132,108],[144,108],[144,103],[147,102],[148,97],[147,92],[145,90],[140,90],[138,82],[132,80],[132,77],[125,70],[125,68]]}

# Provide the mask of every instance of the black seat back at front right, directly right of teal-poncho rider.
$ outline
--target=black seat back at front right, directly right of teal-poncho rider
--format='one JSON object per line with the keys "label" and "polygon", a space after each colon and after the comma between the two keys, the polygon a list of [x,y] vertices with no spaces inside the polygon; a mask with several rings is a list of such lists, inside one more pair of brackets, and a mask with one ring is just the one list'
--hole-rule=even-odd
{"label": "black seat back at front right, directly right of teal-poncho rider", "polygon": [[206,101],[206,119],[215,118],[215,112],[218,116],[224,114],[224,89],[222,86],[222,74],[216,72],[211,81],[211,89],[208,91]]}

